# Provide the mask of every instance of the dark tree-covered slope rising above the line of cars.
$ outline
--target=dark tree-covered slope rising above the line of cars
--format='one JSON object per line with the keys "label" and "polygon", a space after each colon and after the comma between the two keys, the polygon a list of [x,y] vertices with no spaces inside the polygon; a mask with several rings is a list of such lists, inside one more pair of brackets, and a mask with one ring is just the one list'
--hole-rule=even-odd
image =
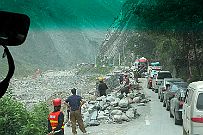
{"label": "dark tree-covered slope rising above the line of cars", "polygon": [[[202,8],[201,0],[127,0],[121,13],[128,14],[118,17],[120,22],[128,19],[125,31],[119,35],[119,42],[114,43],[110,38],[112,43],[104,44],[101,54],[114,54],[109,59],[116,61],[121,54],[121,63],[129,65],[133,53],[134,58],[159,60],[165,70],[173,71],[177,77],[202,80]],[[114,44],[118,46],[116,53]]]}

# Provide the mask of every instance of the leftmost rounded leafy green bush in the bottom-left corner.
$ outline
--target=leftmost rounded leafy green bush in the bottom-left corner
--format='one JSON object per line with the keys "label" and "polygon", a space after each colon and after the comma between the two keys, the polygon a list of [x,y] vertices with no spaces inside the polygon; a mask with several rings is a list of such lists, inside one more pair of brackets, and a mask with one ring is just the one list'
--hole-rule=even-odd
{"label": "leftmost rounded leafy green bush in the bottom-left corner", "polygon": [[28,123],[29,114],[25,107],[10,97],[0,99],[0,134],[17,135]]}

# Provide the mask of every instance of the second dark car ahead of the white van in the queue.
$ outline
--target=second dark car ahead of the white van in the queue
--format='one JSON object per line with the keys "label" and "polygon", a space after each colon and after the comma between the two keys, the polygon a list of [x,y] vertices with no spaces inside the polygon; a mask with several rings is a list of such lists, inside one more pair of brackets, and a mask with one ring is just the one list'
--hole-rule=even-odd
{"label": "second dark car ahead of the white van in the queue", "polygon": [[186,82],[173,82],[170,83],[170,88],[168,91],[164,93],[164,100],[163,100],[163,106],[166,107],[166,110],[169,111],[170,109],[170,100],[175,96],[175,93],[182,88],[185,88],[188,86],[188,83]]}

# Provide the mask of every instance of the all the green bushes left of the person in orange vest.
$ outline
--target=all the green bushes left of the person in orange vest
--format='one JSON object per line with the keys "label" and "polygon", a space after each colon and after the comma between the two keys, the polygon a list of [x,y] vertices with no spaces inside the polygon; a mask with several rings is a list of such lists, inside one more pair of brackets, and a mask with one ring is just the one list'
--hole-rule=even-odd
{"label": "all the green bushes left of the person in orange vest", "polygon": [[47,133],[49,110],[40,103],[27,111],[20,102],[4,96],[0,99],[1,135],[44,135]]}

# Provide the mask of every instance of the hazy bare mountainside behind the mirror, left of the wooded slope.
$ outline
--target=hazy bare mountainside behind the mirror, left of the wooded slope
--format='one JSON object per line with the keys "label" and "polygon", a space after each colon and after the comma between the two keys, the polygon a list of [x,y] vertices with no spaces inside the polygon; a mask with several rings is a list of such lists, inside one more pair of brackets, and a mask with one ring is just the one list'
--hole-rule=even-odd
{"label": "hazy bare mountainside behind the mirror, left of the wooded slope", "polygon": [[31,18],[26,42],[11,48],[17,63],[53,69],[94,62],[121,5],[121,0],[1,0],[0,10]]}

